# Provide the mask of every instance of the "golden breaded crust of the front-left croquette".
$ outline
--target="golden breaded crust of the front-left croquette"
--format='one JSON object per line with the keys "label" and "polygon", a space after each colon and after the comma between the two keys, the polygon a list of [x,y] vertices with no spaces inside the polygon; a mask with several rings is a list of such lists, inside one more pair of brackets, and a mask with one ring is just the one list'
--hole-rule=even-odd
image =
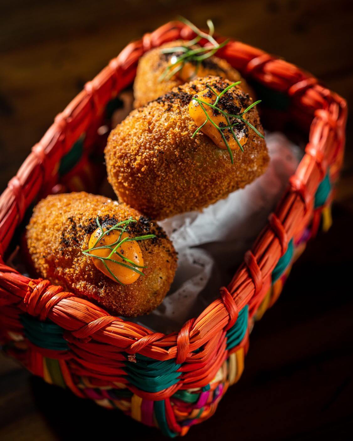
{"label": "golden breaded crust of the front-left croquette", "polygon": [[[92,259],[82,254],[97,228],[97,216],[103,228],[131,216],[138,220],[131,224],[134,236],[157,235],[155,239],[139,241],[148,267],[143,269],[145,276],[122,286],[101,273]],[[163,230],[124,203],[103,196],[84,192],[48,196],[34,208],[26,239],[34,267],[42,277],[128,317],[149,313],[158,306],[176,271],[176,252]]]}

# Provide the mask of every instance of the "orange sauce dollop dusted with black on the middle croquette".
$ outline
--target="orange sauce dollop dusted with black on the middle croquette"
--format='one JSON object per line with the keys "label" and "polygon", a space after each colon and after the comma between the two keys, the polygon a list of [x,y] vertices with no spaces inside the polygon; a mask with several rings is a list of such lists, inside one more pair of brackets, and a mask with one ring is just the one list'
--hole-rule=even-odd
{"label": "orange sauce dollop dusted with black on the middle croquette", "polygon": [[[197,97],[199,100],[204,101],[209,104],[214,104],[217,97],[214,93],[211,93],[210,89],[204,89],[201,92],[197,93]],[[234,97],[233,103],[241,108],[241,112],[244,110],[240,104],[240,101],[237,100],[236,97]],[[220,107],[219,102],[217,104],[217,107],[221,108],[222,110],[225,110]],[[210,117],[210,119],[218,125],[218,127],[225,127],[228,126],[227,120],[224,115],[220,112],[214,112],[214,109],[207,104],[203,104],[203,108],[206,110],[207,115]],[[226,110],[225,110],[226,111]],[[216,114],[215,114],[216,113]],[[229,112],[230,113],[230,112]],[[201,105],[195,101],[191,100],[189,104],[189,115],[192,117],[192,119],[195,121],[195,124],[197,127],[200,127],[206,120],[205,112],[203,111]],[[246,114],[243,116],[243,118],[246,118]],[[234,118],[230,118],[230,122],[234,123]],[[243,127],[243,124],[240,124],[240,127]],[[220,131],[217,129],[217,127],[214,127],[214,125],[207,121],[207,123],[202,127],[200,130],[205,135],[207,135],[209,138],[212,139],[212,141],[218,146],[220,149],[226,149],[227,146],[225,145],[225,142],[222,138],[222,135]],[[233,127],[233,131],[235,135],[238,138],[238,141],[240,142],[241,146],[244,146],[248,139],[247,133],[244,131],[244,128],[239,130],[237,126]],[[228,142],[228,145],[230,149],[237,150],[239,149],[238,143],[233,137],[233,134],[229,129],[223,130],[223,134],[225,135],[225,139]]]}

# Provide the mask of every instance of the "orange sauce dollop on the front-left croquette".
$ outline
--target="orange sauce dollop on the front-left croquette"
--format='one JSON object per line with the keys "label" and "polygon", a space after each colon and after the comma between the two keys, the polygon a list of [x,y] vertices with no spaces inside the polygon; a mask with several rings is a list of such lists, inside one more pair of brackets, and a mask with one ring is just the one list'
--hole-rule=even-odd
{"label": "orange sauce dollop on the front-left croquette", "polygon": [[[105,265],[102,260],[94,258],[94,256],[98,257],[109,257],[109,254],[112,250],[109,248],[101,248],[96,249],[97,247],[106,247],[107,245],[112,245],[115,243],[120,236],[119,230],[113,230],[109,232],[109,234],[104,235],[96,244],[97,239],[101,236],[102,232],[100,228],[97,228],[92,235],[90,236],[89,241],[89,248],[93,248],[93,250],[90,251],[90,254],[92,255],[92,261],[94,265],[106,276],[110,277],[112,280],[116,282],[116,279],[112,276],[112,274],[109,273],[109,271],[105,268]],[[120,240],[128,237],[128,233],[123,232],[121,235]],[[114,247],[113,247],[114,248]],[[139,244],[133,240],[131,242],[124,242],[116,251],[118,251],[121,255],[123,255],[125,258],[130,259],[132,262],[134,262],[135,265],[143,266],[143,257],[142,257],[142,251],[139,247]],[[124,285],[129,285],[131,283],[134,283],[139,277],[140,274],[136,273],[132,269],[127,268],[126,266],[119,265],[119,263],[124,263],[124,265],[131,265],[130,263],[124,261],[118,254],[114,253],[111,257],[115,262],[107,261],[105,260],[106,265],[110,269],[110,271],[114,274],[114,276],[120,280],[121,283]],[[141,268],[138,268],[141,271]]]}

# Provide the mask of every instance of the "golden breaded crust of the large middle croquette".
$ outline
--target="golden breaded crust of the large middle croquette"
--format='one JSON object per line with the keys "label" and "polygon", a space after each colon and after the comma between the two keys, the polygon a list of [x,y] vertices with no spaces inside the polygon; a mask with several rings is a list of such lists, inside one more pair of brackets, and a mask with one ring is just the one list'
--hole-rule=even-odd
{"label": "golden breaded crust of the large middle croquette", "polygon": [[[265,141],[252,130],[244,152],[233,150],[233,165],[228,151],[201,131],[192,139],[196,126],[188,105],[207,83],[218,90],[230,84],[206,77],[176,87],[133,110],[109,135],[105,148],[109,182],[121,201],[153,219],[206,207],[252,182],[267,168]],[[243,108],[251,104],[239,87],[232,91]],[[263,133],[255,108],[247,119]]]}

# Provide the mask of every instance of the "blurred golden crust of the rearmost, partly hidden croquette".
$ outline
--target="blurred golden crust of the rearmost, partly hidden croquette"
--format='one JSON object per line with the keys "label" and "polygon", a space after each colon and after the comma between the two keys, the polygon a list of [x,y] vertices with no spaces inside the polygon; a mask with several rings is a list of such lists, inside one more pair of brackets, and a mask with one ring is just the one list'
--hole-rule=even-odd
{"label": "blurred golden crust of the rearmost, partly hidden croquette", "polygon": [[[180,86],[184,83],[184,81],[181,81],[176,76],[163,81],[159,81],[159,78],[165,71],[165,68],[169,64],[169,60],[173,55],[162,54],[161,49],[180,46],[185,43],[186,41],[183,40],[171,41],[159,48],[146,52],[146,54],[140,58],[134,82],[135,108],[161,97],[161,95],[170,92],[173,87]],[[246,93],[250,93],[251,96],[253,95],[252,90],[249,88],[245,80],[241,78],[240,73],[233,69],[227,61],[216,56],[211,56],[203,61],[203,67],[205,68],[204,71],[207,72],[206,75],[228,78],[231,82],[241,80],[241,88]]]}

